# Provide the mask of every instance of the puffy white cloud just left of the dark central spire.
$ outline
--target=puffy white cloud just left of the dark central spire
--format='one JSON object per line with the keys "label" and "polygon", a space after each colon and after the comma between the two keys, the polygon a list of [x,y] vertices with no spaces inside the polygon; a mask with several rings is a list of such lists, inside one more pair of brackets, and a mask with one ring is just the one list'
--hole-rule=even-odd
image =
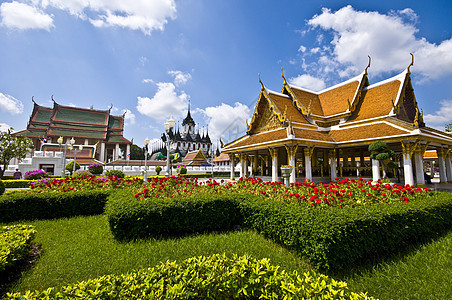
{"label": "puffy white cloud just left of the dark central spire", "polygon": [[171,82],[158,82],[154,97],[137,97],[137,110],[139,113],[163,122],[170,116],[180,118],[187,109],[189,96],[185,92],[176,91]]}

